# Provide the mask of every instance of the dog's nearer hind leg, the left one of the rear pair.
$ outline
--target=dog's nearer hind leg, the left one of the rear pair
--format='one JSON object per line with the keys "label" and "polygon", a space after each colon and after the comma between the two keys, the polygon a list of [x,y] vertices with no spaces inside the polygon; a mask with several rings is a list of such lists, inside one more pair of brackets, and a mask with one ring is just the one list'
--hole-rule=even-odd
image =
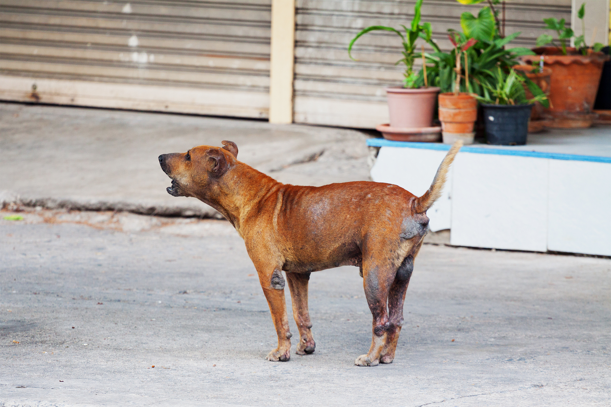
{"label": "dog's nearer hind leg, the left one of the rear pair", "polygon": [[357,366],[377,366],[382,349],[386,344],[389,328],[386,304],[390,285],[395,277],[392,265],[373,265],[363,260],[363,285],[365,297],[373,315],[371,347],[366,355],[360,355],[354,361]]}

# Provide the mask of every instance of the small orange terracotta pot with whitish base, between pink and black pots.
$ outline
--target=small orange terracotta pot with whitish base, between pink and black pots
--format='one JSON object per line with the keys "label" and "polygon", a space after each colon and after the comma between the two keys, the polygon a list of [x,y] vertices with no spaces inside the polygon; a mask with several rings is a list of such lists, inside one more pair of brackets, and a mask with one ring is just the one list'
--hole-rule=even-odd
{"label": "small orange terracotta pot with whitish base, between pink and black pots", "polygon": [[441,121],[444,143],[452,139],[451,134],[472,144],[474,124],[477,120],[477,100],[469,93],[452,92],[439,95],[439,121]]}

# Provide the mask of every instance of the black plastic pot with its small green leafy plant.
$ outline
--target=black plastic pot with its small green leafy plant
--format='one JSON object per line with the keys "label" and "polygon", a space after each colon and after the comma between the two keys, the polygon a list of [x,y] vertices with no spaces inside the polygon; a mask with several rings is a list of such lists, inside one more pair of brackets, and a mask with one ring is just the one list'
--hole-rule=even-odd
{"label": "black plastic pot with its small green leafy plant", "polygon": [[532,107],[536,101],[546,104],[547,96],[540,92],[527,99],[525,77],[513,68],[505,74],[499,66],[493,74],[496,87],[486,85],[489,96],[472,93],[483,107],[486,139],[489,144],[524,145]]}

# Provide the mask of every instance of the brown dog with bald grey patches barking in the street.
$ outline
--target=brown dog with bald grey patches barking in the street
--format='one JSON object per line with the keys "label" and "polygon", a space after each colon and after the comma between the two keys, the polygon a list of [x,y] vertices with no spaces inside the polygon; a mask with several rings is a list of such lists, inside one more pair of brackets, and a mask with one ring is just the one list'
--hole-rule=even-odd
{"label": "brown dog with bald grey patches barking in the street", "polygon": [[358,366],[390,363],[403,323],[403,301],[414,258],[428,231],[426,210],[439,198],[462,143],[456,142],[420,197],[392,184],[345,182],[323,187],[281,184],[238,161],[238,147],[199,146],[162,154],[172,178],[167,192],[193,196],[221,212],[246,243],[278,334],[270,361],[291,357],[284,298],[286,273],[299,328],[296,353],[315,348],[307,306],[310,273],[340,265],[360,267],[373,314],[373,340]]}

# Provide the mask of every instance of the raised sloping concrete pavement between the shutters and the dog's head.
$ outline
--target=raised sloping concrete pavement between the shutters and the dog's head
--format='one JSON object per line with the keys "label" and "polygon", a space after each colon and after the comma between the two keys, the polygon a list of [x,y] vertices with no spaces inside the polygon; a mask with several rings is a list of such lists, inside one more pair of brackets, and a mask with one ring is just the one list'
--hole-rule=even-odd
{"label": "raised sloping concrete pavement between the shutters and the dog's head", "polygon": [[166,192],[159,154],[238,145],[238,158],[280,182],[369,178],[367,132],[166,113],[0,103],[0,201],[144,214],[220,214]]}

